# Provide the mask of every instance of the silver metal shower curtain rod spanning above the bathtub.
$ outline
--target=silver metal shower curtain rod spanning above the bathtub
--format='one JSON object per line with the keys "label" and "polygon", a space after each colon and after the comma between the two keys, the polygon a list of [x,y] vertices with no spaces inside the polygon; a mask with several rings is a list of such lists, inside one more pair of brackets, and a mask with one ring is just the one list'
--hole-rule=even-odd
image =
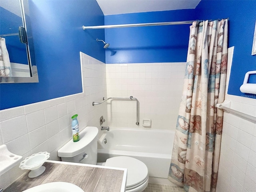
{"label": "silver metal shower curtain rod spanning above the bathtub", "polygon": [[[201,22],[202,20],[197,20]],[[137,24],[120,24],[120,25],[101,25],[101,26],[83,26],[86,29],[104,29],[104,28],[120,28],[120,27],[143,27],[143,26],[160,26],[160,25],[181,25],[192,24],[194,21],[173,21],[173,22],[158,22],[158,23],[137,23]]]}

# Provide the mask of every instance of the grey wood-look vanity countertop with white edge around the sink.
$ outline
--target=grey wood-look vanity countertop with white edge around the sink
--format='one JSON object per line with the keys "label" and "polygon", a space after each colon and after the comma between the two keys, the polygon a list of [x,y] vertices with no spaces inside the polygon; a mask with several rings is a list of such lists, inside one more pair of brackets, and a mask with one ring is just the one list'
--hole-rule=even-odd
{"label": "grey wood-look vanity countertop with white edge around the sink", "polygon": [[46,161],[45,172],[28,178],[29,170],[13,182],[4,192],[22,192],[50,182],[69,182],[84,192],[125,192],[127,169],[61,161]]}

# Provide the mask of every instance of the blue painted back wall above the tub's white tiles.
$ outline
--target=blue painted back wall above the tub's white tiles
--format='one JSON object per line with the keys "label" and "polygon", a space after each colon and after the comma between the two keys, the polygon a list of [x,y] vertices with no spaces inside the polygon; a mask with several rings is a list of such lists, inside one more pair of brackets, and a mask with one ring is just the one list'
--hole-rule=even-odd
{"label": "blue painted back wall above the tub's white tiles", "polygon": [[[196,20],[195,10],[174,10],[105,16],[105,25]],[[105,29],[106,63],[185,62],[189,26],[147,26]]]}

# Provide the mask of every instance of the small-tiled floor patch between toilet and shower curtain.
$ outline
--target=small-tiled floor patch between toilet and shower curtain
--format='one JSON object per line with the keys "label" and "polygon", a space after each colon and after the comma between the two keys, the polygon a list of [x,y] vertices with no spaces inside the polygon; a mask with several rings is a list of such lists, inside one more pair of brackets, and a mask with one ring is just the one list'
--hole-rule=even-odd
{"label": "small-tiled floor patch between toilet and shower curtain", "polygon": [[183,188],[180,188],[177,186],[148,183],[147,188],[143,192],[185,192],[185,191]]}

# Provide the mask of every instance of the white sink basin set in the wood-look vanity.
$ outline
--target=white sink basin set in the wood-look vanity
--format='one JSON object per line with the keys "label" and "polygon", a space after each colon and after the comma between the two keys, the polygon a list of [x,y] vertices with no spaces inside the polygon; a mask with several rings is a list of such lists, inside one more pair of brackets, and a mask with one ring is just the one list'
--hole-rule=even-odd
{"label": "white sink basin set in the wood-look vanity", "polygon": [[52,182],[38,185],[22,192],[84,192],[80,187],[68,182]]}

